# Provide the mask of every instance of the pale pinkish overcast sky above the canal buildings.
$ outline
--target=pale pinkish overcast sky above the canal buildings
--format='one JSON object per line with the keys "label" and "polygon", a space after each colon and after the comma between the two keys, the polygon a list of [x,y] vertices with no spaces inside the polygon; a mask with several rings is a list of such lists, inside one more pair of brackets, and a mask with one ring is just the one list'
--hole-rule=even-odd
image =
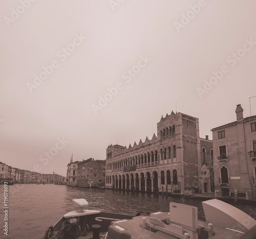
{"label": "pale pinkish overcast sky above the canal buildings", "polygon": [[151,139],[176,104],[209,139],[237,104],[255,115],[255,12],[254,0],[1,1],[0,161],[66,176],[72,154]]}

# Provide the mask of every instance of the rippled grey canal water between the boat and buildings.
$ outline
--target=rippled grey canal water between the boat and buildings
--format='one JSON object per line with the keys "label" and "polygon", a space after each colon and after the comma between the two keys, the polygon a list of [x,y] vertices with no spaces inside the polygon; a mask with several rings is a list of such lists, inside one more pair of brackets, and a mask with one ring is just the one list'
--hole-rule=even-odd
{"label": "rippled grey canal water between the boat and buildings", "polygon": [[[4,185],[0,185],[4,196]],[[162,198],[161,195],[121,192],[103,188],[81,188],[54,184],[15,184],[8,188],[8,236],[4,235],[4,197],[1,196],[0,238],[40,239],[49,226],[53,226],[63,214],[74,210],[72,199],[84,198],[89,209],[135,215],[139,211],[168,211],[169,202],[198,207],[199,219],[204,220],[202,201],[193,199]],[[256,208],[238,205],[239,209],[256,219]],[[3,229],[2,229],[3,228]],[[2,230],[1,230],[2,229]]]}

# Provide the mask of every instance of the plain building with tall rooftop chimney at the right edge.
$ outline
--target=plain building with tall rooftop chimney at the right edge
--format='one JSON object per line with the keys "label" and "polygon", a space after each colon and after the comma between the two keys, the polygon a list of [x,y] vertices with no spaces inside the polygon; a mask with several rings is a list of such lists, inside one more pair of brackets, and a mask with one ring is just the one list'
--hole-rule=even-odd
{"label": "plain building with tall rooftop chimney at the right edge", "polygon": [[222,196],[256,198],[256,115],[244,118],[237,105],[237,121],[212,129],[215,189]]}

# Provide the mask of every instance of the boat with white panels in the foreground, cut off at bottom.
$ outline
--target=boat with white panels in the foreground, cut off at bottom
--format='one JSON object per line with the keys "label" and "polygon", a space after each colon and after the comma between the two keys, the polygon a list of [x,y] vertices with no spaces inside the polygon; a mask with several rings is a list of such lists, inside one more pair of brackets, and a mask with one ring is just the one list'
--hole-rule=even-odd
{"label": "boat with white panels in the foreground, cut off at bottom", "polygon": [[198,208],[170,202],[168,212],[149,216],[89,210],[85,199],[74,199],[75,211],[65,214],[44,239],[256,239],[256,221],[225,202],[202,202],[206,222]]}

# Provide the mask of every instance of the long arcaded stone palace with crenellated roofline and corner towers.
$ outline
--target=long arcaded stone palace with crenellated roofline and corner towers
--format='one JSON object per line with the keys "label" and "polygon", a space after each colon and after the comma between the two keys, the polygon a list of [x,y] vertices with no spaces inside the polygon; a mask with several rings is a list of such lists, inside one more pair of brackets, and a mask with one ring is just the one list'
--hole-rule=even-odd
{"label": "long arcaded stone palace with crenellated roofline and corner towers", "polygon": [[144,142],[140,140],[138,145],[134,142],[129,148],[110,145],[106,149],[105,186],[109,188],[147,192],[164,189],[173,193],[202,191],[201,171],[198,118],[180,112],[162,116],[157,123],[157,135],[151,140],[146,137]]}

